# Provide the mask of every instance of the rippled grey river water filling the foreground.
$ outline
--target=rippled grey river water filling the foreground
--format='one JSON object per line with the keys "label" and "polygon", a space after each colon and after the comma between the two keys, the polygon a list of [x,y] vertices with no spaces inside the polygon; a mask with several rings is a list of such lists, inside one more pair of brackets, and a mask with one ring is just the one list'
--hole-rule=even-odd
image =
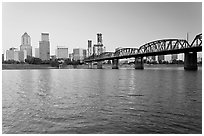
{"label": "rippled grey river water filling the foreground", "polygon": [[202,133],[202,70],[3,70],[3,133]]}

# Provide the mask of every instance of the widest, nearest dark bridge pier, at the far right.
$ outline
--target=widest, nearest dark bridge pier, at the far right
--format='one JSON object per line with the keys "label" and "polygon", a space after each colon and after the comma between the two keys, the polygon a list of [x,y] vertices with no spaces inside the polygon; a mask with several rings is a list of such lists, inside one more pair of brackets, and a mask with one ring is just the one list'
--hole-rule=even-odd
{"label": "widest, nearest dark bridge pier, at the far right", "polygon": [[197,52],[184,53],[184,69],[185,70],[197,70]]}

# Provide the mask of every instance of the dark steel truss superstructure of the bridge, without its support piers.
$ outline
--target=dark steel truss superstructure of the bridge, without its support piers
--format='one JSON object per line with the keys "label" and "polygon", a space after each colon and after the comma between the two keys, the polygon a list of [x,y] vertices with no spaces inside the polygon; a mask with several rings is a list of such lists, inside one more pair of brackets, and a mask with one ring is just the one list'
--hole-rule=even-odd
{"label": "dark steel truss superstructure of the bridge, without its support piers", "polygon": [[184,39],[162,39],[146,43],[139,48],[121,48],[115,52],[104,52],[85,58],[85,62],[114,60],[131,57],[178,54],[202,51],[202,33],[196,35],[191,44]]}

